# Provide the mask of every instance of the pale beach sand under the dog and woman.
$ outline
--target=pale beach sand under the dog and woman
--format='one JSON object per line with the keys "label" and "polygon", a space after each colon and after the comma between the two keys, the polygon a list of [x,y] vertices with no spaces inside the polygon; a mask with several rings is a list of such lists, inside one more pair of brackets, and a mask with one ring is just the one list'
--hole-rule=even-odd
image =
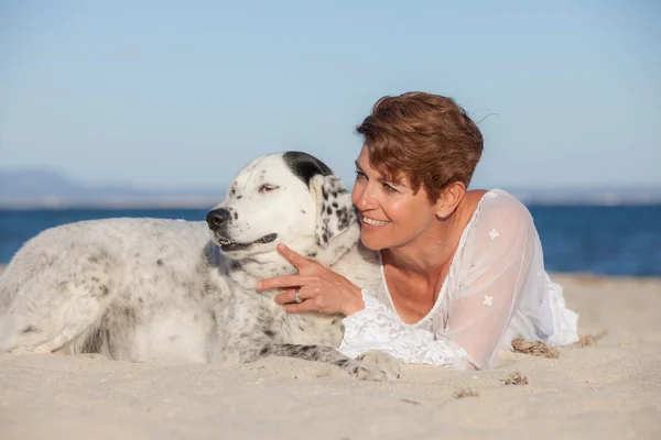
{"label": "pale beach sand under the dog and woman", "polygon": [[608,334],[557,359],[505,353],[487,372],[404,365],[397,382],[365,383],[282,358],[227,369],[0,355],[0,438],[660,439],[661,279],[553,278],[581,332]]}

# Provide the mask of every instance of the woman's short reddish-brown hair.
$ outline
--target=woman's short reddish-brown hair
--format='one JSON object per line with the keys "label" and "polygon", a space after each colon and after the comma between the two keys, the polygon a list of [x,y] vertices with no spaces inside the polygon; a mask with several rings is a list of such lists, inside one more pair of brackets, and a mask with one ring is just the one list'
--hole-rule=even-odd
{"label": "woman's short reddish-brown hair", "polygon": [[483,135],[453,99],[425,92],[383,97],[356,129],[370,165],[388,178],[403,174],[430,201],[455,182],[466,187],[483,153]]}

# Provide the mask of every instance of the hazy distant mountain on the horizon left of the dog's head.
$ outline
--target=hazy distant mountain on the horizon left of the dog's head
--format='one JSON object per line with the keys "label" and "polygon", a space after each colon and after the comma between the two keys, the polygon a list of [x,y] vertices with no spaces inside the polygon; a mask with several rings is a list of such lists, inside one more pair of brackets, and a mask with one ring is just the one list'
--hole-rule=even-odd
{"label": "hazy distant mountain on the horizon left of the dog's head", "polygon": [[210,207],[225,197],[218,188],[139,189],[87,185],[48,169],[0,170],[0,207]]}

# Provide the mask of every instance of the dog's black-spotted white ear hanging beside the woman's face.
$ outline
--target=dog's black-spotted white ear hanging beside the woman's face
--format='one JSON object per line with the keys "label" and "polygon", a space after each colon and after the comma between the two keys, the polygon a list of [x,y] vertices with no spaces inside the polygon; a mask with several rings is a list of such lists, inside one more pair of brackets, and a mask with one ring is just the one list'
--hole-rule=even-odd
{"label": "dog's black-spotted white ear hanging beside the woman's face", "polygon": [[316,175],[310,180],[310,191],[316,200],[316,241],[325,248],[330,240],[356,221],[351,194],[335,175]]}

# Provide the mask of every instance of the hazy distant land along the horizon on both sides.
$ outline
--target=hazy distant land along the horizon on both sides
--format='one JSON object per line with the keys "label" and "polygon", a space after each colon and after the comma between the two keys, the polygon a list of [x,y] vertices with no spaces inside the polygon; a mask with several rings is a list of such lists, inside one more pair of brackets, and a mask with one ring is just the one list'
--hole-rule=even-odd
{"label": "hazy distant land along the horizon on both sides", "polygon": [[[661,188],[566,188],[508,191],[528,205],[655,205]],[[216,205],[226,190],[139,189],[129,185],[87,185],[47,169],[0,170],[0,208],[201,207]]]}

